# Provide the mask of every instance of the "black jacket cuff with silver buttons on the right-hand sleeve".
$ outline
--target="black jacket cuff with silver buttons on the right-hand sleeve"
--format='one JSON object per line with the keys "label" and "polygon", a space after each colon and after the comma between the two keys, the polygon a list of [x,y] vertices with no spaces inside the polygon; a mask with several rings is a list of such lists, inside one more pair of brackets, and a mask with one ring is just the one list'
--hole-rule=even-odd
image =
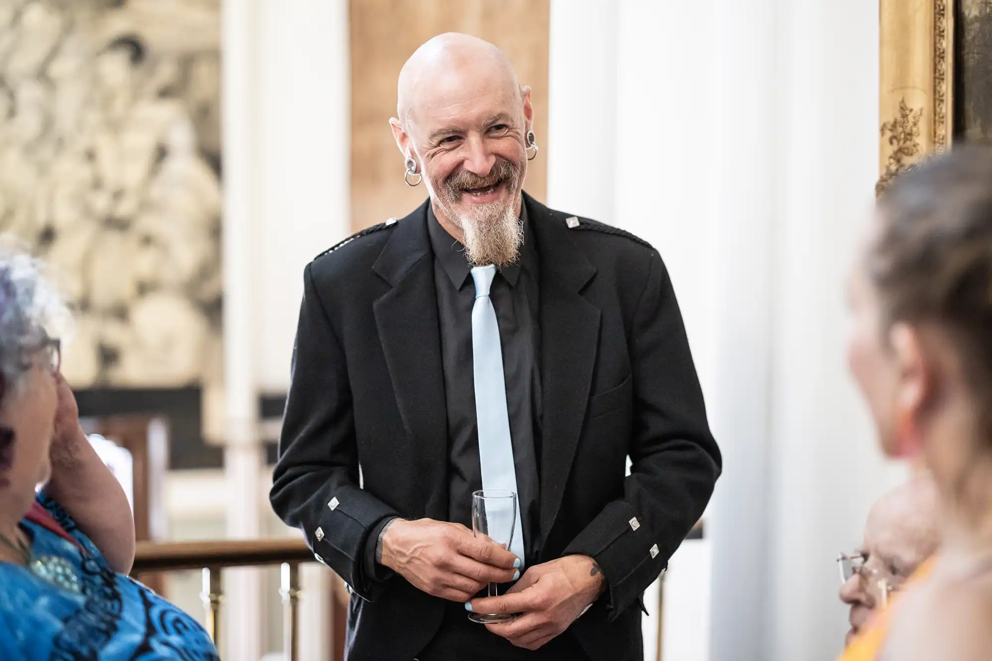
{"label": "black jacket cuff with silver buttons on the right-hand sleeve", "polygon": [[614,500],[562,553],[589,556],[599,565],[607,585],[600,599],[610,611],[609,621],[638,600],[668,566],[654,538],[630,503]]}

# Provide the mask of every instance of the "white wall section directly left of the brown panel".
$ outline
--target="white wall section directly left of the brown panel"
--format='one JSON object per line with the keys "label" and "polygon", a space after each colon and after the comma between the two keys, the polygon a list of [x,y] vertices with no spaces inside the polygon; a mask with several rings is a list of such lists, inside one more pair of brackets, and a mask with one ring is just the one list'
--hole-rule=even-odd
{"label": "white wall section directly left of the brown panel", "polygon": [[263,2],[260,11],[256,367],[263,391],[285,392],[304,267],[351,233],[348,3]]}

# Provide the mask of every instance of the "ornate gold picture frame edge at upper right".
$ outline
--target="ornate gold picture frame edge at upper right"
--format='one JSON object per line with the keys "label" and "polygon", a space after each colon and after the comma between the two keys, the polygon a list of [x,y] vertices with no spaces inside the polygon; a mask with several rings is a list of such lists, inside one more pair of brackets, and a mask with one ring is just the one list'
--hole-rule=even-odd
{"label": "ornate gold picture frame edge at upper right", "polygon": [[953,137],[954,0],[879,0],[879,180]]}

